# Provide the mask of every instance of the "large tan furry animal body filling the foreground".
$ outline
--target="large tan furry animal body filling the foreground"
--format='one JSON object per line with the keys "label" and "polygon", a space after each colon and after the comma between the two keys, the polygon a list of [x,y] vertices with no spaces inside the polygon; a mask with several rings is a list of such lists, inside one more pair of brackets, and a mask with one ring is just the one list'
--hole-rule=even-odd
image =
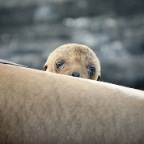
{"label": "large tan furry animal body filling the foreground", "polygon": [[0,144],[143,144],[144,92],[0,64]]}

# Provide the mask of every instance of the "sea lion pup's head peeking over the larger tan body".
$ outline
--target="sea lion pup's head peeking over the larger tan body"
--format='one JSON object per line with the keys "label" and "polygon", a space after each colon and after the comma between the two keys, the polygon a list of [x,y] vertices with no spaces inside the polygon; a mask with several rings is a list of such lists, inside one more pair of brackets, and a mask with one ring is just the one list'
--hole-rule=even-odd
{"label": "sea lion pup's head peeking over the larger tan body", "polygon": [[48,72],[99,80],[101,67],[96,54],[82,44],[65,44],[48,57],[44,68]]}

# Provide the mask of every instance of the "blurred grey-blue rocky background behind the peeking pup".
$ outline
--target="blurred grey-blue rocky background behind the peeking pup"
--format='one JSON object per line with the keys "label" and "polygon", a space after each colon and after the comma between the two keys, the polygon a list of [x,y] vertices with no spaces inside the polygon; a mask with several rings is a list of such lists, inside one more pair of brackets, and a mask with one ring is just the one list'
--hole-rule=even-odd
{"label": "blurred grey-blue rocky background behind the peeking pup", "polygon": [[0,0],[0,59],[43,69],[65,43],[96,52],[102,81],[144,90],[143,0]]}

